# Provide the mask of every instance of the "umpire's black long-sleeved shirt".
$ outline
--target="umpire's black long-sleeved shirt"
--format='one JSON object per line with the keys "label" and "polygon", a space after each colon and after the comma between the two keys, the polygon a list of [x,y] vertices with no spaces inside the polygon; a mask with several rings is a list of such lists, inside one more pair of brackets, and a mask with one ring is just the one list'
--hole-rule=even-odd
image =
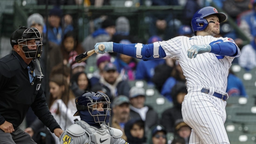
{"label": "umpire's black long-sleeved shirt", "polygon": [[46,104],[41,82],[32,77],[28,65],[15,51],[0,59],[0,125],[7,121],[16,130],[31,106],[51,132],[60,128]]}

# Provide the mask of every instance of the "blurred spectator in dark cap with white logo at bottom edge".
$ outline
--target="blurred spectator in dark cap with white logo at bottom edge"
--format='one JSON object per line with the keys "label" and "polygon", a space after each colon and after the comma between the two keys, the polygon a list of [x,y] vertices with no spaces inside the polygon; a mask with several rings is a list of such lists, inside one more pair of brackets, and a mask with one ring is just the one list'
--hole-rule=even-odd
{"label": "blurred spectator in dark cap with white logo at bottom edge", "polygon": [[166,130],[161,125],[152,127],[149,144],[167,144]]}

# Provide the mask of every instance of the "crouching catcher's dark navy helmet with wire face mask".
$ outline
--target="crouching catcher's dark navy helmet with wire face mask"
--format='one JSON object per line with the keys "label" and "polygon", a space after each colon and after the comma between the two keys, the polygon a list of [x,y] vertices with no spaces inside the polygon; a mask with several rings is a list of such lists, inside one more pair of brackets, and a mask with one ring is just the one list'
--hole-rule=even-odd
{"label": "crouching catcher's dark navy helmet with wire face mask", "polygon": [[[81,117],[83,115],[91,115],[93,116],[95,123],[103,123],[106,128],[109,127],[111,109],[109,97],[106,94],[96,91],[85,91],[81,96],[75,99],[75,103],[77,111],[74,116],[80,115]],[[98,109],[95,107],[97,106],[97,103],[103,103],[103,108]],[[90,119],[89,117],[87,118]]]}

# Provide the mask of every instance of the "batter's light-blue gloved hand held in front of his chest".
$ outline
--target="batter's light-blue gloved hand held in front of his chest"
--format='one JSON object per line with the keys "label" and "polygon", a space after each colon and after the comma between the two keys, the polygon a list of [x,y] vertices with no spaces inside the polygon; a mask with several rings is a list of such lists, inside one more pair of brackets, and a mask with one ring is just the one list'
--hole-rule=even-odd
{"label": "batter's light-blue gloved hand held in front of his chest", "polygon": [[204,45],[192,45],[188,50],[187,50],[187,57],[189,58],[196,58],[197,54],[203,54],[206,52],[211,52],[211,45],[209,44],[204,44]]}

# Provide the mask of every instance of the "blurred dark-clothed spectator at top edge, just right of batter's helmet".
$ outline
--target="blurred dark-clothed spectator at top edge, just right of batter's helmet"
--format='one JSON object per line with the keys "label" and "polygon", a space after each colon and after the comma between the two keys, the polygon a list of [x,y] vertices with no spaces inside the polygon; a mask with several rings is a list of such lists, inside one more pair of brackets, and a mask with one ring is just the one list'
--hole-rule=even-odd
{"label": "blurred dark-clothed spectator at top edge, just right of batter's helmet", "polygon": [[223,2],[223,10],[233,19],[236,19],[239,14],[250,9],[250,0],[225,0]]}

